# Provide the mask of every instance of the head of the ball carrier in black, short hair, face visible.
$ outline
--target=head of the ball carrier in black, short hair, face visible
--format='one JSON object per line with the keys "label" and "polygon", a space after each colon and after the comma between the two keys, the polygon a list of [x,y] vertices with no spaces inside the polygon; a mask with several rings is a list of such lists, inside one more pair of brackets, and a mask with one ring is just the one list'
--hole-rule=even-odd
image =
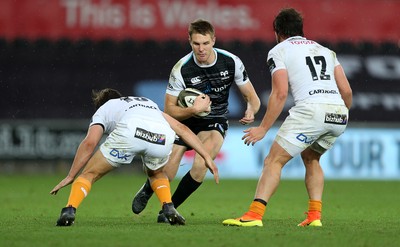
{"label": "head of the ball carrier in black, short hair, face visible", "polygon": [[205,20],[198,19],[190,23],[189,43],[196,59],[201,64],[211,64],[215,60],[213,47],[215,31],[213,25]]}

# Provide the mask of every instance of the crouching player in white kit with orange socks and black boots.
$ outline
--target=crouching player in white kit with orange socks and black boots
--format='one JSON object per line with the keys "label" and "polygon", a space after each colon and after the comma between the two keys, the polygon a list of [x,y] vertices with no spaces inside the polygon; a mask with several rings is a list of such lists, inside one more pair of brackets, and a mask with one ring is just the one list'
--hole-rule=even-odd
{"label": "crouching player in white kit with orange socks and black boots", "polygon": [[[129,165],[137,155],[142,159],[165,218],[172,225],[185,224],[185,219],[172,203],[170,183],[162,168],[170,157],[175,135],[178,135],[204,158],[205,165],[218,183],[218,169],[200,139],[188,127],[160,111],[150,99],[121,97],[117,90],[107,88],[94,92],[93,102],[97,111],[78,147],[70,171],[50,191],[55,195],[73,182],[67,205],[61,210],[56,225],[72,225],[76,209],[90,192],[92,184],[114,168]],[[109,135],[93,154],[103,134]],[[75,179],[82,168],[82,173]]]}

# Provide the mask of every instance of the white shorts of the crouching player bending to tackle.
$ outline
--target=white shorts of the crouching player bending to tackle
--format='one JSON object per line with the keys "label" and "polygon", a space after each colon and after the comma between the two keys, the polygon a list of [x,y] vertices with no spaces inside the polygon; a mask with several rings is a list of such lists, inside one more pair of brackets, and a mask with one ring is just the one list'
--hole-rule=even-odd
{"label": "white shorts of the crouching player bending to tackle", "polygon": [[129,165],[140,155],[143,165],[157,170],[167,163],[174,141],[175,132],[166,121],[133,117],[117,124],[100,151],[114,167]]}

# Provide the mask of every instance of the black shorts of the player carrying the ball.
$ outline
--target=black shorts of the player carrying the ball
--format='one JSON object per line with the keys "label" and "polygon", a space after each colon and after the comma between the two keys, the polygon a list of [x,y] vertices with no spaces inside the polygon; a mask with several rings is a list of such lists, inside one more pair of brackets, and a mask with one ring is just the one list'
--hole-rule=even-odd
{"label": "black shorts of the player carrying the ball", "polygon": [[[213,119],[201,119],[201,118],[189,118],[187,120],[182,121],[183,124],[189,127],[194,134],[198,134],[201,131],[209,131],[216,130],[218,131],[223,138],[226,136],[226,132],[229,127],[228,119],[226,118],[213,118]],[[187,145],[183,140],[179,138],[179,136],[175,136],[174,144],[185,146],[187,150],[192,150],[192,148]]]}

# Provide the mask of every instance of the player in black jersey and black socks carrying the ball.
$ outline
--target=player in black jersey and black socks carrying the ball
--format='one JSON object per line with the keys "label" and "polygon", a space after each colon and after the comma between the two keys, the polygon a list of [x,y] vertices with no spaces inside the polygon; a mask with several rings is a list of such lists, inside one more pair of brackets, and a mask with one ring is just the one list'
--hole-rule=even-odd
{"label": "player in black jersey and black socks carrying the ball", "polygon": [[[243,118],[239,120],[242,124],[254,121],[254,115],[260,108],[260,99],[240,58],[226,50],[214,48],[216,37],[210,22],[202,19],[193,21],[189,25],[188,35],[192,51],[172,68],[164,111],[188,126],[203,142],[211,157],[215,158],[229,127],[227,115],[231,86],[238,87],[247,103]],[[193,107],[179,107],[177,98],[185,88],[198,89],[207,96],[197,97]],[[210,111],[210,114],[202,118],[195,116],[204,111]],[[164,169],[170,180],[175,177],[182,157],[189,149],[184,141],[175,142],[171,159]],[[183,176],[172,196],[176,208],[199,188],[206,173],[204,160],[196,154],[190,171]],[[152,193],[146,182],[133,199],[132,211],[136,214],[142,212]],[[157,221],[166,222],[163,216],[160,212]]]}

